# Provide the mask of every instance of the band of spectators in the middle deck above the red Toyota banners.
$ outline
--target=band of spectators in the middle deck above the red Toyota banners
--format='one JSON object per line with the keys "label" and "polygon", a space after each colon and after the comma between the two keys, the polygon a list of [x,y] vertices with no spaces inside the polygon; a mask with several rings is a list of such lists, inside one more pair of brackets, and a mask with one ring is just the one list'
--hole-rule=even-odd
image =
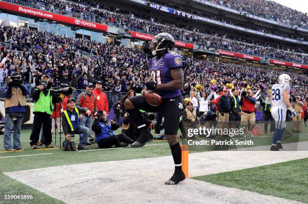
{"label": "band of spectators in the middle deck above the red Toyota banners", "polygon": [[[31,3],[31,6],[45,11],[55,11],[55,8],[60,8],[59,13],[67,15],[72,13],[73,17],[81,18],[88,21],[98,23],[112,23],[121,28],[128,30],[138,29],[139,32],[155,35],[161,32],[172,33],[179,41],[196,43],[206,48],[220,48],[236,52],[244,52],[250,55],[257,55],[264,58],[275,58],[285,61],[291,61],[301,64],[307,63],[307,57],[304,54],[306,50],[292,48],[274,48],[274,45],[258,43],[252,40],[245,40],[218,33],[212,33],[204,29],[190,28],[187,26],[177,25],[140,16],[124,10],[115,10],[102,4],[96,4],[91,1],[76,1],[79,4],[61,1],[25,1]],[[42,8],[42,2],[45,7]],[[88,6],[81,6],[88,5]],[[95,8],[94,8],[95,7]]]}

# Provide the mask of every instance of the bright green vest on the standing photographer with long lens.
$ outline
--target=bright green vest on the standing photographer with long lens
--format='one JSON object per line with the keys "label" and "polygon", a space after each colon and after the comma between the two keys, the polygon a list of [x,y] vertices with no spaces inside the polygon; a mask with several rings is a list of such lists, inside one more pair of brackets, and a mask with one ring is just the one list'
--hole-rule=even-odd
{"label": "bright green vest on the standing photographer with long lens", "polygon": [[49,115],[52,115],[53,104],[52,96],[50,96],[50,90],[48,91],[47,96],[41,91],[38,101],[34,103],[33,112],[46,112]]}

